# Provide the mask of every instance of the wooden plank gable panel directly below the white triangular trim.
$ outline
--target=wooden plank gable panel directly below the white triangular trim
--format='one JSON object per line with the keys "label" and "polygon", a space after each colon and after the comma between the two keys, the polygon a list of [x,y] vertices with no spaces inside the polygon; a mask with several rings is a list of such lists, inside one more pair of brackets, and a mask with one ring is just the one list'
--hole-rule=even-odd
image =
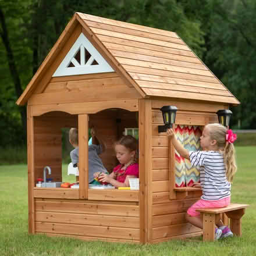
{"label": "wooden plank gable panel directly below the white triangular trim", "polygon": [[[73,80],[75,78],[75,80]],[[137,99],[140,94],[128,87],[115,72],[53,77],[47,87],[31,95],[29,105],[70,104],[78,102]]]}

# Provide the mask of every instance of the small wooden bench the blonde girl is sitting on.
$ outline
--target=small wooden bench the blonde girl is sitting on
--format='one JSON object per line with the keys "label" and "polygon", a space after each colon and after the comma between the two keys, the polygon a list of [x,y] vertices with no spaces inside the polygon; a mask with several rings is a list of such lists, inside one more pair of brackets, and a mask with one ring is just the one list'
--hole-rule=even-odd
{"label": "small wooden bench the blonde girl is sitting on", "polygon": [[[203,241],[214,241],[215,236],[215,224],[223,219],[224,215],[230,219],[230,229],[237,236],[241,236],[241,217],[244,215],[248,204],[229,204],[223,208],[202,208],[196,209],[203,215]],[[224,221],[224,224],[228,224],[228,219]]]}

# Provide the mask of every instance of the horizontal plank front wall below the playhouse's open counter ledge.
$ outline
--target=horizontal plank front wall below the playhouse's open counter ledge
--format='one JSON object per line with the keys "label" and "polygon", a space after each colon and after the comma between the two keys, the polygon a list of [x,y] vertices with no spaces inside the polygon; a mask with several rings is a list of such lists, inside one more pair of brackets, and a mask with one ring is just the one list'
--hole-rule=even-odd
{"label": "horizontal plank front wall below the playhouse's open counter ledge", "polygon": [[35,211],[35,233],[78,236],[85,240],[138,242],[140,239],[138,205],[36,200]]}

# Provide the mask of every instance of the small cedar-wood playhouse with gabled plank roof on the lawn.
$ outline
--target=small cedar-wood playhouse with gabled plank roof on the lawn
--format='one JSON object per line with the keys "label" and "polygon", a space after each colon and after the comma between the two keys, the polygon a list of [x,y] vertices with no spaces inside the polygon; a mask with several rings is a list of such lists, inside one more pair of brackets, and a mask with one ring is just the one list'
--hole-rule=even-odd
{"label": "small cedar-wood playhouse with gabled plank roof on the lawn", "polygon": [[[202,127],[239,101],[176,33],[75,13],[17,104],[27,104],[30,233],[132,243],[201,233],[184,219],[201,195],[189,187],[198,170],[158,133],[160,108],[177,106],[177,136],[198,148]],[[138,129],[140,190],[88,189],[91,125],[108,144],[108,170],[113,141]],[[63,181],[63,127],[79,129],[80,187],[36,187],[47,165]]]}

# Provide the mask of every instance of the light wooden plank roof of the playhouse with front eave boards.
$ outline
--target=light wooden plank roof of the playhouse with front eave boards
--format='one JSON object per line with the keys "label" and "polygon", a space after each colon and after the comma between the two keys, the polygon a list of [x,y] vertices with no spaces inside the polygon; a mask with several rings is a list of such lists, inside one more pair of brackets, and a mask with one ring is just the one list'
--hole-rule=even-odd
{"label": "light wooden plank roof of the playhouse with front eave boards", "polygon": [[60,51],[74,22],[81,24],[109,65],[143,97],[240,104],[176,33],[84,13],[74,14],[17,104],[26,103],[33,93],[35,81],[56,56],[52,51]]}

